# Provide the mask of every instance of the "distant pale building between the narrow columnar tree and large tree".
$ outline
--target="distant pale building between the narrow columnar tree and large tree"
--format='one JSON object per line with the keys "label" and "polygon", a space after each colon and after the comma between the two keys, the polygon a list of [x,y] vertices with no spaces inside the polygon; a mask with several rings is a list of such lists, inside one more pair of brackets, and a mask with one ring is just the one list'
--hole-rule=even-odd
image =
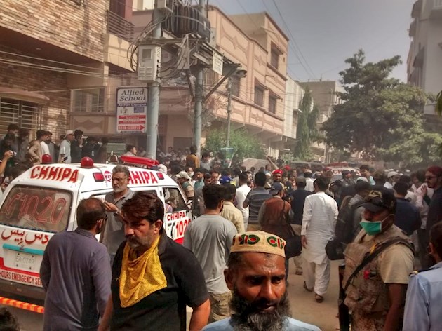
{"label": "distant pale building between the narrow columnar tree and large tree", "polygon": [[[327,121],[333,112],[333,107],[341,102],[337,92],[340,92],[342,88],[338,85],[337,81],[307,81],[300,83],[302,88],[311,91],[314,99],[314,104],[319,108],[319,118],[316,122],[318,129],[321,128],[322,123]],[[331,150],[326,144],[314,142],[312,149],[315,154],[315,158],[318,161],[324,163],[330,162]]]}

